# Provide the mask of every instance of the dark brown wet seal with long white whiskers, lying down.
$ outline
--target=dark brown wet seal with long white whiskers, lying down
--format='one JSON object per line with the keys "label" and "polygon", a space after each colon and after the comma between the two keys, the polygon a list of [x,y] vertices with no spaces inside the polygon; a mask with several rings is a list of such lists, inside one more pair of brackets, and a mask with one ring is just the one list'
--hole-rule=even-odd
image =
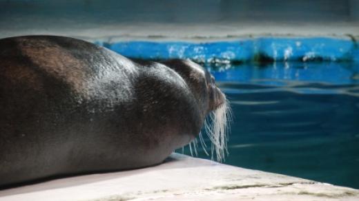
{"label": "dark brown wet seal with long white whiskers, lying down", "polygon": [[128,59],[63,36],[0,39],[0,187],[157,165],[202,125],[221,159],[228,108],[192,61]]}

